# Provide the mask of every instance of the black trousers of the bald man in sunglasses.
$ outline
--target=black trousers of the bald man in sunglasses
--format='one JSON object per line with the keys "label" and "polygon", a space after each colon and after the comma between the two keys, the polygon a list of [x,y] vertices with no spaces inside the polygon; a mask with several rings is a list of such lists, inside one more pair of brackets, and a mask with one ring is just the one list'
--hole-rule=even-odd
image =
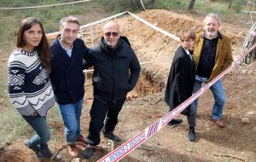
{"label": "black trousers of the bald man in sunglasses", "polygon": [[[118,124],[118,115],[123,107],[125,99],[118,101],[102,101],[97,98],[93,100],[90,109],[90,127],[88,142],[91,145],[98,145],[101,142],[101,130],[104,126],[103,133],[113,132]],[[106,116],[107,114],[107,116]],[[104,119],[105,125],[104,125]]]}

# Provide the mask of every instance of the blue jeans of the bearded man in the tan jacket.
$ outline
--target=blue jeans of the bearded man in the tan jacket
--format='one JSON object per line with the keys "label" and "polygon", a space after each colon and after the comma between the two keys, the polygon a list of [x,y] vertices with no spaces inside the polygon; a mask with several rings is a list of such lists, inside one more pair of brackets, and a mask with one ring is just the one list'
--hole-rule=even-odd
{"label": "blue jeans of the bearded man in the tan jacket", "polygon": [[[196,75],[193,94],[195,94],[195,92],[201,89],[202,83],[207,83],[207,81],[208,81],[208,78],[203,78]],[[213,84],[210,87],[210,90],[212,91],[212,95],[214,97],[214,105],[212,107],[212,119],[221,119],[223,114],[224,104],[226,101],[226,95],[225,95],[224,88],[222,86],[221,79],[219,79],[215,84]],[[193,102],[193,105],[197,109],[198,99],[196,99]]]}

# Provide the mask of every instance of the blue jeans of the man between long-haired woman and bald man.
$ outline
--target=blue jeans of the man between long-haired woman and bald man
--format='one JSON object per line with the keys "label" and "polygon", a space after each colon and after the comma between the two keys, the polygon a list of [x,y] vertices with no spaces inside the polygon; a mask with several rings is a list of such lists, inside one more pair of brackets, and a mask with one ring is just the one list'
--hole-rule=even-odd
{"label": "blue jeans of the man between long-haired woman and bald man", "polygon": [[76,103],[59,105],[61,116],[65,125],[65,136],[68,143],[77,141],[81,135],[80,117],[83,108],[84,97]]}

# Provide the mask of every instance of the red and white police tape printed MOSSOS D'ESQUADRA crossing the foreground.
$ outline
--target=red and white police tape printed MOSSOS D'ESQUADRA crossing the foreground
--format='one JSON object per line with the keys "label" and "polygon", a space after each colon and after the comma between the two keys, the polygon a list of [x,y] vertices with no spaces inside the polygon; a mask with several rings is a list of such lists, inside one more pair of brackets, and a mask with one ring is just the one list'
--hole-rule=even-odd
{"label": "red and white police tape printed MOSSOS D'ESQUADRA crossing the foreground", "polygon": [[247,56],[253,49],[255,49],[256,43],[247,50],[240,58],[234,61],[230,67],[221,72],[216,78],[213,78],[211,82],[205,84],[201,90],[198,90],[194,95],[190,96],[189,99],[183,101],[179,106],[173,109],[170,113],[166,113],[166,115],[156,122],[148,126],[145,130],[142,130],[137,134],[137,136],[132,137],[130,140],[115,148],[113,152],[108,153],[102,159],[99,159],[98,162],[116,162],[120,159],[124,158],[128,153],[131,153],[132,150],[140,146],[143,142],[147,141],[149,137],[153,136],[157,131],[163,128],[168,122],[174,119],[179,113],[181,113],[186,107],[188,107],[193,101],[195,101],[200,95],[202,95],[206,90],[208,90],[212,84],[215,84],[218,79],[223,78],[225,74],[230,72],[230,70],[239,64],[240,61]]}

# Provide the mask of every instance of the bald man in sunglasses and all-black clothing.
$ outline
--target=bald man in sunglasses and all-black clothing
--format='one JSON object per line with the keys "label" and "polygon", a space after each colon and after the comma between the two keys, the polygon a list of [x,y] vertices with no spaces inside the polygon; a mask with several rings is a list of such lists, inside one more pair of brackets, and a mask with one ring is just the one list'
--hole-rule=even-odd
{"label": "bald man in sunglasses and all-black clothing", "polygon": [[[121,142],[119,136],[113,134],[118,124],[118,115],[139,77],[140,64],[128,39],[120,37],[119,25],[108,22],[102,29],[103,37],[90,49],[85,58],[87,66],[94,66],[93,87],[94,101],[90,109],[90,127],[88,144],[96,146],[100,143],[100,132],[115,142]],[[105,124],[104,124],[104,119]],[[83,151],[85,159],[93,154],[92,149]]]}

